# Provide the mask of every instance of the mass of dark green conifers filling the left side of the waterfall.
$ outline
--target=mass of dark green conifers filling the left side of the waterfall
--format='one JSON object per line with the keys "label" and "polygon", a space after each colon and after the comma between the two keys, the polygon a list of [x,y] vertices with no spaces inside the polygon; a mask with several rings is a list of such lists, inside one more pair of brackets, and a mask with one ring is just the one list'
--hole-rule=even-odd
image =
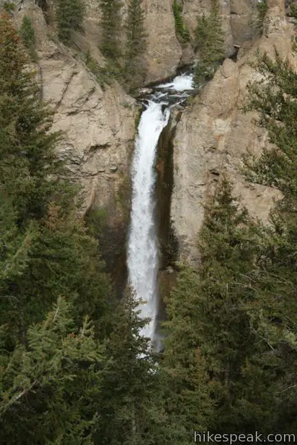
{"label": "mass of dark green conifers filling the left side of the waterfall", "polygon": [[0,443],[141,443],[157,417],[143,321],[113,297],[8,15],[0,57]]}

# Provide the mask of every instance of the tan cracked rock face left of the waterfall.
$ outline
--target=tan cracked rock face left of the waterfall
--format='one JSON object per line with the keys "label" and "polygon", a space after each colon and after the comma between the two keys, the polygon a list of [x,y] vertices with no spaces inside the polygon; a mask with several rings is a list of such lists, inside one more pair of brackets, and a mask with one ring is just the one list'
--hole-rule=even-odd
{"label": "tan cracked rock face left of the waterfall", "polygon": [[83,62],[48,38],[41,9],[24,2],[16,14],[34,24],[43,99],[54,107],[53,130],[63,130],[59,156],[69,177],[83,185],[83,207],[105,207],[111,223],[122,220],[118,193],[129,176],[135,135],[135,101],[114,83],[102,90]]}

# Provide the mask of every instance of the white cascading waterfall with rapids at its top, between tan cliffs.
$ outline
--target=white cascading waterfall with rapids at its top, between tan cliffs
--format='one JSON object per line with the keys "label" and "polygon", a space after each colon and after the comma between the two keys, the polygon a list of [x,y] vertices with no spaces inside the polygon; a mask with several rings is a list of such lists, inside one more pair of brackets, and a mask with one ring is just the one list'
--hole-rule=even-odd
{"label": "white cascading waterfall with rapids at its top, between tan cliffs", "polygon": [[[158,308],[157,273],[159,269],[154,196],[157,143],[163,128],[168,124],[170,107],[174,106],[172,103],[180,103],[188,97],[192,89],[192,75],[177,76],[173,82],[158,85],[155,89],[163,89],[163,91],[150,95],[146,101],[148,103],[140,118],[135,141],[131,227],[127,258],[129,282],[137,298],[141,300],[137,310],[141,311],[142,318],[148,317],[151,320],[143,328],[142,335],[149,337],[152,341]],[[184,93],[180,94],[181,91]],[[162,102],[159,102],[160,100]],[[169,103],[171,103],[170,106]]]}

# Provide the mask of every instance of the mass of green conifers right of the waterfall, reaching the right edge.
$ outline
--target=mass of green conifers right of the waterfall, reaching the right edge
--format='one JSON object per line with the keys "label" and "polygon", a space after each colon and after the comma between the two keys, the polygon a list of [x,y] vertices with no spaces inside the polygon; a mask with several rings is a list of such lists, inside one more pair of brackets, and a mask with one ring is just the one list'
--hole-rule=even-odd
{"label": "mass of green conifers right of the waterfall, reaching the right edge", "polygon": [[[263,78],[250,84],[247,109],[259,112],[274,148],[246,159],[246,174],[283,198],[264,227],[221,180],[199,233],[201,263],[182,267],[168,303],[164,367],[176,381],[168,403],[194,391],[196,418],[211,408],[210,431],[296,434],[297,75],[277,53],[256,66]],[[195,359],[212,406],[195,389]],[[175,406],[184,419],[186,404]]]}

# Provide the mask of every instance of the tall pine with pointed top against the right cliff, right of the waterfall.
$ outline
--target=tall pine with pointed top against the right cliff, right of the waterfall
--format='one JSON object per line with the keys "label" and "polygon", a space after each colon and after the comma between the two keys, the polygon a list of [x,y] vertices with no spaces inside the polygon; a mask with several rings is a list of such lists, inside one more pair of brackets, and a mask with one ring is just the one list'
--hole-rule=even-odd
{"label": "tall pine with pointed top against the right cliff, right of the waterfall", "polygon": [[201,264],[181,269],[168,301],[164,365],[173,383],[167,400],[184,418],[185,431],[187,424],[202,431],[245,431],[253,422],[236,407],[236,384],[254,352],[245,306],[254,298],[247,275],[258,231],[223,179],[199,233]]}

